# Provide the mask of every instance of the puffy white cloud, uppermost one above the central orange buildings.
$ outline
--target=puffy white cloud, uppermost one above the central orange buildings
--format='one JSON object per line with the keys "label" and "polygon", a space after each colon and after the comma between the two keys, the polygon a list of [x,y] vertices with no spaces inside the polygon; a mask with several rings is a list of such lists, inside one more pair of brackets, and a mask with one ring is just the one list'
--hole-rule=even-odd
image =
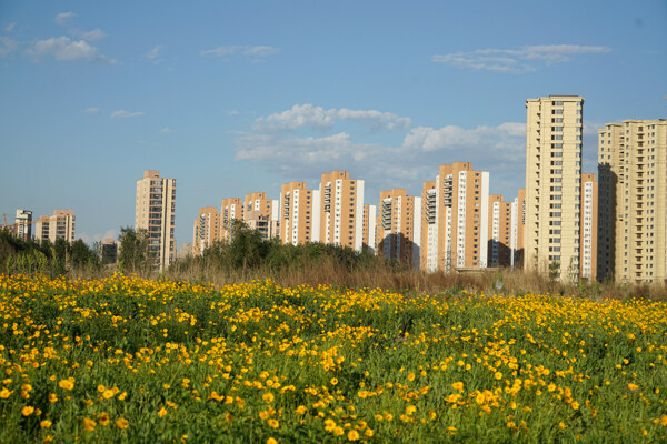
{"label": "puffy white cloud, uppermost one above the central orange buildings", "polygon": [[381,129],[407,129],[412,124],[409,118],[376,110],[349,110],[332,108],[325,110],[310,103],[295,104],[291,109],[259,118],[255,129],[260,131],[291,131],[299,128],[328,130],[337,120],[351,120],[369,127],[374,131]]}

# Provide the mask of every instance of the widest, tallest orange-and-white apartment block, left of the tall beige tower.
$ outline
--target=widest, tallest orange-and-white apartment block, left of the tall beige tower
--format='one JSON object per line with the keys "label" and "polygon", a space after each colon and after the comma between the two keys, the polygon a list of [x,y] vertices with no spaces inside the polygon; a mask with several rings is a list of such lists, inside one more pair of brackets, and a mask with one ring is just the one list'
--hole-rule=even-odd
{"label": "widest, tallest orange-and-white apartment block, left of the tall beige tower", "polygon": [[469,162],[440,165],[422,189],[421,263],[426,271],[488,264],[489,173]]}

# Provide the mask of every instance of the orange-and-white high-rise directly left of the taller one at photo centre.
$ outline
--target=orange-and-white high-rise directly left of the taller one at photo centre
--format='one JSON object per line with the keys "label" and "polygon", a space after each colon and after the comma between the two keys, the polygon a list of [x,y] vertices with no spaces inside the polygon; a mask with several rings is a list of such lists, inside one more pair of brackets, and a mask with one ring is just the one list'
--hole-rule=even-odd
{"label": "orange-and-white high-rise directly left of the taller one at photo centre", "polygon": [[282,243],[319,241],[319,191],[308,190],[306,182],[282,184],[280,191],[280,240]]}

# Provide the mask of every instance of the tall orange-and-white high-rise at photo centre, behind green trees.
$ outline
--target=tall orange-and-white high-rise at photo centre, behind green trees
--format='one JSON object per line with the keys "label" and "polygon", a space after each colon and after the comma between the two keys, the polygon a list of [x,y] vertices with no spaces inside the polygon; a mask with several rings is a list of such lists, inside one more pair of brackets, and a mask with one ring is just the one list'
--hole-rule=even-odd
{"label": "tall orange-and-white high-rise at photo centre, behind green trees", "polygon": [[322,243],[364,246],[364,181],[350,179],[347,171],[323,173],[319,186]]}

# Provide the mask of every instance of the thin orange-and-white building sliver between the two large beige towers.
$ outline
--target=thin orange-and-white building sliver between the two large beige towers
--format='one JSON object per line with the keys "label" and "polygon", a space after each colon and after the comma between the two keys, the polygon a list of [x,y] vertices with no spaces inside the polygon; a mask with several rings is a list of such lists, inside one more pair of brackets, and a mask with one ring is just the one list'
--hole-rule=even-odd
{"label": "thin orange-and-white building sliver between the two large beige towers", "polygon": [[580,233],[580,276],[597,281],[597,240],[598,240],[598,182],[595,174],[581,174],[581,221]]}

